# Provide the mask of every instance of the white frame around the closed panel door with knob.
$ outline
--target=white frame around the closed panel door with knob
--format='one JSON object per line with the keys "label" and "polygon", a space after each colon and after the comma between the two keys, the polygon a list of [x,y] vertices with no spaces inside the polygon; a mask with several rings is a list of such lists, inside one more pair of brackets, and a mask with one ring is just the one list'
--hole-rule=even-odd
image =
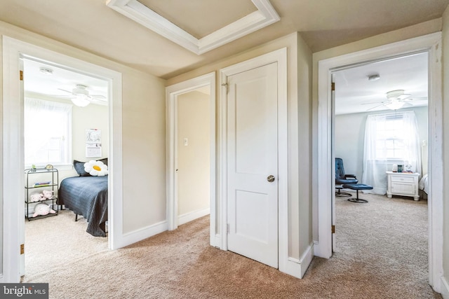
{"label": "white frame around the closed panel door with knob", "polygon": [[279,270],[294,277],[302,277],[298,260],[288,258],[288,95],[287,95],[287,49],[282,48],[271,53],[246,60],[239,64],[220,69],[220,99],[218,106],[218,207],[217,246],[227,250],[227,76],[238,74],[248,69],[255,69],[266,64],[278,64],[278,155],[279,155],[279,201],[278,201],[278,236],[279,236]]}

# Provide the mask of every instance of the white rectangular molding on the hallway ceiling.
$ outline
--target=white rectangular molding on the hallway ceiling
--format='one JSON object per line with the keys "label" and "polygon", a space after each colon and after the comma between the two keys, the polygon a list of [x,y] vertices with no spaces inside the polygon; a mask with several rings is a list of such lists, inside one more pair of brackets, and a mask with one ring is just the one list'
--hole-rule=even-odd
{"label": "white rectangular molding on the hallway ceiling", "polygon": [[201,39],[196,39],[138,0],[109,0],[106,5],[196,55],[201,55],[281,20],[269,0],[251,1],[257,11]]}

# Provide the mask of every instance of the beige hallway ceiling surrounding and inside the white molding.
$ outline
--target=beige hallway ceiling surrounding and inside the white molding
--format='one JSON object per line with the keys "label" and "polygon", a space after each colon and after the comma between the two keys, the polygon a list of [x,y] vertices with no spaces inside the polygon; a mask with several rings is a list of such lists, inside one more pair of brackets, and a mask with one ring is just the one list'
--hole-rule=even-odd
{"label": "beige hallway ceiling surrounding and inside the white molding", "polygon": [[[242,0],[243,1],[243,0]],[[250,1],[142,0],[180,27],[203,35],[250,12]],[[163,2],[163,4],[159,4]],[[218,1],[217,1],[218,2]],[[171,78],[229,55],[300,32],[313,52],[440,18],[449,0],[272,0],[281,20],[203,55],[168,41],[105,5],[105,0],[1,0],[0,20]],[[216,4],[218,5],[218,4]],[[234,13],[230,13],[234,12]],[[236,13],[237,12],[237,13]],[[220,15],[222,14],[222,15]],[[231,14],[231,15],[228,15]],[[215,16],[215,17],[211,17]]]}

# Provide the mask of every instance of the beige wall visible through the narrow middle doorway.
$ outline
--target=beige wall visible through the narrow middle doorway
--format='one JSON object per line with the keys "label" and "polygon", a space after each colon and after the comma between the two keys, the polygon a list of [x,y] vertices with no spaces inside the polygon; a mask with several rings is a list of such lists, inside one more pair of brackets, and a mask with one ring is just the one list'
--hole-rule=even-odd
{"label": "beige wall visible through the narrow middle doorway", "polygon": [[177,186],[178,216],[210,207],[210,97],[198,91],[177,97]]}

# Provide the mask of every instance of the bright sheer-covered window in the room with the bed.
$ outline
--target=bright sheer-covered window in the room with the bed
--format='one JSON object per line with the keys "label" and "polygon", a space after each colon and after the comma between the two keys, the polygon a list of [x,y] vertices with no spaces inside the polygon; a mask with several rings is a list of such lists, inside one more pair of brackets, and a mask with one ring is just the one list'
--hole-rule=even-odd
{"label": "bright sheer-covered window in the room with the bed", "polygon": [[25,167],[70,165],[72,105],[25,98]]}

